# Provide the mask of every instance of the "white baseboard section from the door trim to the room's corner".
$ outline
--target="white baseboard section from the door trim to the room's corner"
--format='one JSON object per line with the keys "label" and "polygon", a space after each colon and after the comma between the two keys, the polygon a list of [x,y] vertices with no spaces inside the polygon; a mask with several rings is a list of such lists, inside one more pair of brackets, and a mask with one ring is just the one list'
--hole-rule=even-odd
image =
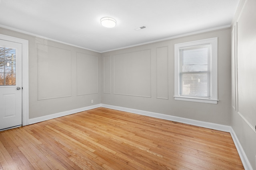
{"label": "white baseboard section from the door trim to the room's corner", "polygon": [[46,116],[42,116],[42,117],[36,117],[36,118],[33,118],[33,119],[29,119],[29,125],[34,124],[34,123],[38,123],[38,122],[42,122],[42,121],[46,121],[46,120],[50,120],[50,119],[55,119],[57,117],[71,115],[71,114],[78,113],[78,112],[81,112],[81,111],[95,109],[95,108],[98,108],[100,106],[101,106],[101,104],[96,104],[96,105],[93,105],[93,106],[87,106],[87,107],[82,107],[82,108],[79,108],[79,109],[73,109],[73,110],[63,111],[63,112],[60,112],[60,113],[54,113],[54,114],[46,115]]}

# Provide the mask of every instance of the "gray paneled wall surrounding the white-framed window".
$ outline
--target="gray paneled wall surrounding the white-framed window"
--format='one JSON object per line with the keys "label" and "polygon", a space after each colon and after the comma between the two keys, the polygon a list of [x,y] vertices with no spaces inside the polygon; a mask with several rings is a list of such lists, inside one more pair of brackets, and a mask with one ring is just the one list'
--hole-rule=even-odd
{"label": "gray paneled wall surrounding the white-framed window", "polygon": [[[174,44],[212,37],[218,37],[218,104],[174,100]],[[102,57],[102,104],[230,125],[230,29],[110,51]]]}

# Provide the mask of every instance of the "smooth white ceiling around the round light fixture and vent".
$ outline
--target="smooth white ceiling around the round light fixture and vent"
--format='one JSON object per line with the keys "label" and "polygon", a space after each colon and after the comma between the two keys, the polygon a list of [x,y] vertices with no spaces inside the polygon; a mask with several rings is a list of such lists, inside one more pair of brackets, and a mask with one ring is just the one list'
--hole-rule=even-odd
{"label": "smooth white ceiling around the round light fixture and vent", "polygon": [[[0,26],[104,52],[230,26],[239,0],[1,0]],[[100,18],[117,21],[114,28]],[[145,29],[134,30],[146,25]]]}

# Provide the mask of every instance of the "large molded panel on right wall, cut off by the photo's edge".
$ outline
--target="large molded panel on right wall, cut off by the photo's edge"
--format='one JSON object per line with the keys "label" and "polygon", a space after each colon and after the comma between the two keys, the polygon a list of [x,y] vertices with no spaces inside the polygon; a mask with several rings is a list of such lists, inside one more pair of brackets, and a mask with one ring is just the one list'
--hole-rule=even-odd
{"label": "large molded panel on right wall, cut off by the photo's edge", "polygon": [[255,6],[255,0],[246,2],[237,23],[238,112],[254,130],[256,125]]}

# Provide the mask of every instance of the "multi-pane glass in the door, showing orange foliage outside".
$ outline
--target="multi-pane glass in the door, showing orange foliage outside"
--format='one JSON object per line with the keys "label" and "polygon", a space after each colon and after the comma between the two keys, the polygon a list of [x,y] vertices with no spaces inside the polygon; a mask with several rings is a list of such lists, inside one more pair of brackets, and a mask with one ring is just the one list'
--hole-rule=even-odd
{"label": "multi-pane glass in the door, showing orange foliage outside", "polygon": [[0,46],[0,86],[16,85],[16,49]]}

